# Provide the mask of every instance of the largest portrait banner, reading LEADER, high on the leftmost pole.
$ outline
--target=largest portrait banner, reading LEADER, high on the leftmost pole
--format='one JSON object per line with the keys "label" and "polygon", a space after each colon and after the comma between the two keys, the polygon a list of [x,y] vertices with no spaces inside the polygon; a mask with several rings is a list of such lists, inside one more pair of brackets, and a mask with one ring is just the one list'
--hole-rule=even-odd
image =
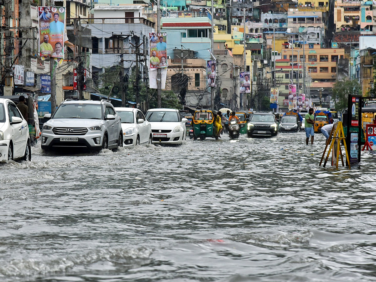
{"label": "largest portrait banner, reading LEADER, high on the leftmost pole", "polygon": [[65,7],[38,7],[39,56],[64,59]]}

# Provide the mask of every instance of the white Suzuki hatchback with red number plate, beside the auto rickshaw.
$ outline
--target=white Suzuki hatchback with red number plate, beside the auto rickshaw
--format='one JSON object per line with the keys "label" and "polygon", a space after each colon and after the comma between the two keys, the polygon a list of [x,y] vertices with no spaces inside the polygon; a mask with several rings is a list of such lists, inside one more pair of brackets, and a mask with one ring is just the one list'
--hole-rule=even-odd
{"label": "white Suzuki hatchback with red number plate, beside the auto rickshaw", "polygon": [[150,109],[146,119],[152,124],[154,144],[182,144],[188,120],[177,109]]}

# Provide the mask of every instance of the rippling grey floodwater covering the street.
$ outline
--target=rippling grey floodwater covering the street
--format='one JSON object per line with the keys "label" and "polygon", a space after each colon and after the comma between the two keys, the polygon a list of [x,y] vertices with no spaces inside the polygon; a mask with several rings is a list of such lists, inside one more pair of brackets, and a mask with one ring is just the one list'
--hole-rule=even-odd
{"label": "rippling grey floodwater covering the street", "polygon": [[324,136],[187,140],[0,165],[0,280],[376,281],[376,155]]}

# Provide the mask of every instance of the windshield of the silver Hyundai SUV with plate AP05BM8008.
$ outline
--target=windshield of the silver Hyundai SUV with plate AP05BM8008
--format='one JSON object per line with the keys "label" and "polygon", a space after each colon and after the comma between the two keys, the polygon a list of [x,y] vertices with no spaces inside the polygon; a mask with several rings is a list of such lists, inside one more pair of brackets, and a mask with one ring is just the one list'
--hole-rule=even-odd
{"label": "windshield of the silver Hyundai SUV with plate AP05BM8008", "polygon": [[53,118],[90,118],[102,119],[102,106],[100,104],[63,104],[53,115]]}

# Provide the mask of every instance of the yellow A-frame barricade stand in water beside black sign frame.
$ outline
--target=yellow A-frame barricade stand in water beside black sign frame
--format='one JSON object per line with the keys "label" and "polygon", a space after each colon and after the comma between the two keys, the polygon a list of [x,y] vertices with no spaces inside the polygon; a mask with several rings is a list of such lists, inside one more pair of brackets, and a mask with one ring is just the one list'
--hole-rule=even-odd
{"label": "yellow A-frame barricade stand in water beside black sign frame", "polygon": [[334,154],[332,154],[332,165],[335,164],[335,167],[338,168],[338,162],[339,162],[340,157],[341,157],[342,166],[343,167],[345,166],[345,164],[343,162],[343,153],[342,153],[341,143],[343,144],[343,146],[345,148],[347,164],[349,165],[349,168],[351,168],[350,167],[350,160],[349,160],[349,153],[348,153],[347,147],[346,147],[346,137],[345,137],[345,134],[343,132],[343,126],[342,126],[341,121],[338,121],[332,127],[332,130],[329,134],[329,139],[327,140],[326,145],[325,145],[323,156],[321,157],[321,161],[320,161],[320,164],[319,164],[320,166],[321,166],[321,163],[323,162],[323,159],[324,159],[324,156],[325,156],[325,153],[326,153],[326,149],[329,146],[329,144],[330,144],[329,151],[328,151],[327,156],[325,158],[323,167],[325,167],[325,165],[326,165],[326,163],[329,159],[330,152],[332,150],[333,150],[333,153],[334,153]]}

